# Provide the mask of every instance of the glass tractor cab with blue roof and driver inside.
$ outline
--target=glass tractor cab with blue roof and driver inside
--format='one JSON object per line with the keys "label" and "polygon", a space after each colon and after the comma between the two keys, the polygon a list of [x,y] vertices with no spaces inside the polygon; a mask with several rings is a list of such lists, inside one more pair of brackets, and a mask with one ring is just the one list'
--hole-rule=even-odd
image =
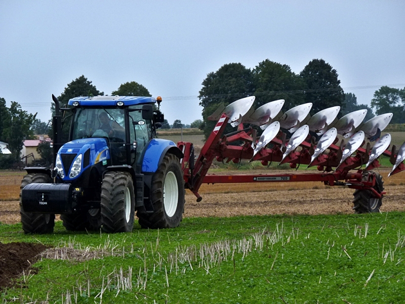
{"label": "glass tractor cab with blue roof and driver inside", "polygon": [[139,164],[142,151],[155,132],[151,97],[97,96],[69,100],[73,119],[69,141],[104,138],[108,165]]}

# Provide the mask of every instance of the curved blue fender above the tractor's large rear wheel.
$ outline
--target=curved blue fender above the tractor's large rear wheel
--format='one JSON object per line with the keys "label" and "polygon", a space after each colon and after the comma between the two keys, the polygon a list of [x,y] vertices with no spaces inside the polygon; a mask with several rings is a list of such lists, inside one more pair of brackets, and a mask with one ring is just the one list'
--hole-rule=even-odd
{"label": "curved blue fender above the tractor's large rear wheel", "polygon": [[176,144],[167,139],[154,138],[149,141],[142,160],[142,173],[154,173],[167,153],[183,158],[182,151]]}

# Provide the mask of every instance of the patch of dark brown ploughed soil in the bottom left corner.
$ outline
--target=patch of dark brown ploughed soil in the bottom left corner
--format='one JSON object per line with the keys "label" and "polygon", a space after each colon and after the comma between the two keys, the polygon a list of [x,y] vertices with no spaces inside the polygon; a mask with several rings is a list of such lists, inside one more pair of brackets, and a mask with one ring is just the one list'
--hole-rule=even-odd
{"label": "patch of dark brown ploughed soil in the bottom left corner", "polygon": [[11,286],[13,279],[35,271],[30,268],[36,262],[37,254],[47,249],[42,244],[0,243],[0,290]]}

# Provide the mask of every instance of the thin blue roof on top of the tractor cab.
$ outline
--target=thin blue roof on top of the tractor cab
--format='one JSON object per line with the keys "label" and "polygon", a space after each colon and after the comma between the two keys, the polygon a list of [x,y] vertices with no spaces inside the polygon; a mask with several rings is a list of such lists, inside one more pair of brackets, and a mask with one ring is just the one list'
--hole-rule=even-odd
{"label": "thin blue roof on top of the tractor cab", "polygon": [[155,103],[156,99],[153,97],[143,97],[143,96],[82,96],[69,99],[68,104],[73,105],[73,102],[77,101],[81,106],[114,106],[118,101],[123,101],[124,105],[137,105],[144,103]]}

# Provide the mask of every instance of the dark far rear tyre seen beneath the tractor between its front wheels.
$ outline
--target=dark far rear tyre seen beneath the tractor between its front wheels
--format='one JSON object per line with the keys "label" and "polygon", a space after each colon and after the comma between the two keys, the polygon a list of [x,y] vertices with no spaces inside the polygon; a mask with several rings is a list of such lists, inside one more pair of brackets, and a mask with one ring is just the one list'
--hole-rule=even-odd
{"label": "dark far rear tyre seen beneath the tractor between its front wheels", "polygon": [[60,219],[69,231],[97,231],[101,227],[100,209],[81,210],[72,214],[62,214]]}

